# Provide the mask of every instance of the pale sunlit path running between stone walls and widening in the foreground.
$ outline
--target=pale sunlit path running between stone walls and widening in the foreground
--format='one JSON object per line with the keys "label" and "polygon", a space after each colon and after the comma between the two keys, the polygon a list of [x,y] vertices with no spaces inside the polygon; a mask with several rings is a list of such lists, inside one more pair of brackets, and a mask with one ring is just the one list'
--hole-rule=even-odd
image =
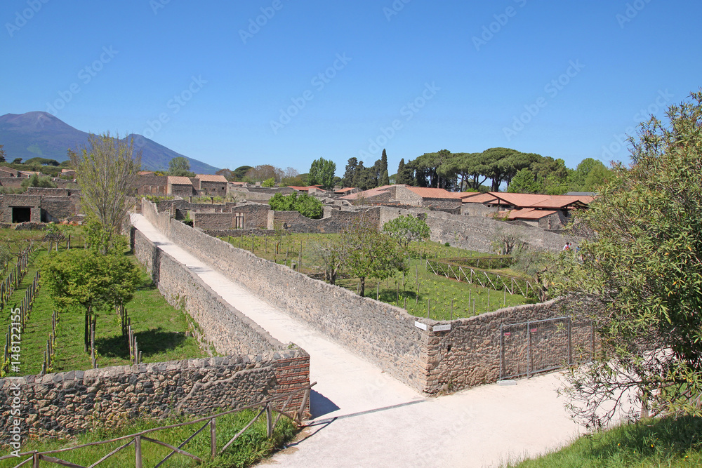
{"label": "pale sunlit path running between stone walls and widening in the foreground", "polygon": [[282,342],[310,353],[313,421],[274,455],[284,467],[491,467],[562,446],[581,428],[557,398],[559,374],[425,398],[382,370],[213,271],[157,232],[132,222],[213,290]]}

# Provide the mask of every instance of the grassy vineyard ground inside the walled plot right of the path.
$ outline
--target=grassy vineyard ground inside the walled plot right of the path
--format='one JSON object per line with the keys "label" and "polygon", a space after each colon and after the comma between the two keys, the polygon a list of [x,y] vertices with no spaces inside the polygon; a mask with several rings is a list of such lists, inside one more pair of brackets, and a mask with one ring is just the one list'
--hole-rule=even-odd
{"label": "grassy vineyard ground inside the walled plot right of the path", "polygon": [[[338,234],[289,234],[284,236],[244,236],[224,238],[235,247],[244,248],[255,255],[314,277],[322,277],[324,267],[317,255],[318,246],[325,245]],[[491,312],[505,306],[529,304],[522,295],[482,288],[427,271],[426,258],[457,258],[484,255],[470,250],[445,246],[436,242],[423,242],[416,248],[418,258],[409,260],[409,269],[385,281],[366,279],[365,296],[403,307],[414,316],[427,316],[436,320],[451,317],[469,317]],[[514,272],[511,272],[514,274]],[[358,291],[357,278],[340,279],[338,286]]]}

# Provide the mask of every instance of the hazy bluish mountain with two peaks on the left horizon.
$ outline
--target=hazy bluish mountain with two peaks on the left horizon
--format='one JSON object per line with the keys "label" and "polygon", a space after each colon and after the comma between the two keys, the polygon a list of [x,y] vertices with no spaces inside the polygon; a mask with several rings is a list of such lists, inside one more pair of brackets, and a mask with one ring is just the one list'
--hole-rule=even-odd
{"label": "hazy bluish mountain with two peaks on the left horizon", "polygon": [[[141,167],[145,171],[166,171],[168,161],[183,154],[176,153],[141,135],[133,138],[135,149],[141,149]],[[0,116],[0,145],[4,145],[6,160],[42,158],[65,161],[68,149],[76,149],[88,141],[88,133],[79,131],[48,112],[5,114]],[[190,171],[213,174],[218,168],[197,159],[183,156],[190,161]]]}

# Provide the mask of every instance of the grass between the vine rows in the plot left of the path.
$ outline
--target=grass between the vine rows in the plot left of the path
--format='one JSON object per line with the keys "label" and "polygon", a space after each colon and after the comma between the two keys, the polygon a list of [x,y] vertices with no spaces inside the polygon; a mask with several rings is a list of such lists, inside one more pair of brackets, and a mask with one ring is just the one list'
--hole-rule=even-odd
{"label": "grass between the vine rows in the plot left of the path", "polygon": [[[15,232],[10,229],[4,231],[8,232],[2,232],[0,235],[14,236],[15,242],[30,236],[34,236],[37,240],[44,235],[36,231]],[[78,240],[77,237],[74,239]],[[7,330],[13,305],[22,300],[26,288],[32,283],[34,274],[37,269],[40,269],[41,261],[47,255],[50,254],[46,246],[32,252],[27,274],[0,313],[0,330]],[[137,263],[133,256],[131,260]],[[126,304],[126,309],[142,352],[143,362],[192,359],[208,355],[193,337],[187,335],[191,319],[185,312],[173,308],[166,302],[145,272],[141,285],[135,291],[133,299]],[[48,295],[48,291],[40,286],[25,330],[22,332],[20,371],[11,372],[8,375],[30,375],[41,372],[46,341],[51,334],[51,314],[54,310],[53,300]],[[58,314],[51,371],[63,372],[91,368],[91,357],[84,352],[83,333],[84,314],[82,312],[66,311]],[[121,333],[117,312],[111,310],[98,314],[95,348],[99,367],[131,363],[127,338]]]}

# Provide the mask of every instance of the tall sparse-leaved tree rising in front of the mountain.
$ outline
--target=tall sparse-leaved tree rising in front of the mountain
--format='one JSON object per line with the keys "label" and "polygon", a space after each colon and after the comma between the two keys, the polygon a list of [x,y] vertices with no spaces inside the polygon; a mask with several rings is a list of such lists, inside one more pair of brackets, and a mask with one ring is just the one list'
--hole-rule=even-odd
{"label": "tall sparse-leaved tree rising in front of the mountain", "polygon": [[127,196],[135,183],[141,153],[133,141],[89,135],[79,152],[70,152],[81,189],[81,209],[109,232],[118,232],[127,211]]}

